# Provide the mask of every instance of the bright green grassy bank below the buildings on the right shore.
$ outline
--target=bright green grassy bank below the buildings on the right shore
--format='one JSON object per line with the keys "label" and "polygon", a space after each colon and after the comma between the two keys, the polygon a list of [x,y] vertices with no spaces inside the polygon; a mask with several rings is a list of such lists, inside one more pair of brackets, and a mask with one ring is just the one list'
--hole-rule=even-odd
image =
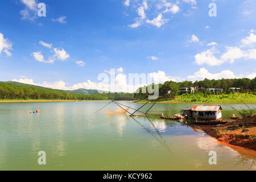
{"label": "bright green grassy bank below the buildings on the right shore", "polygon": [[[147,100],[137,100],[134,102],[144,103]],[[152,101],[154,102],[154,101]],[[172,103],[196,103],[196,104],[256,104],[256,95],[250,93],[237,93],[237,94],[204,94],[204,93],[195,93],[195,94],[183,94],[181,96],[176,96],[172,98],[160,98],[157,103],[162,104],[172,104]]]}

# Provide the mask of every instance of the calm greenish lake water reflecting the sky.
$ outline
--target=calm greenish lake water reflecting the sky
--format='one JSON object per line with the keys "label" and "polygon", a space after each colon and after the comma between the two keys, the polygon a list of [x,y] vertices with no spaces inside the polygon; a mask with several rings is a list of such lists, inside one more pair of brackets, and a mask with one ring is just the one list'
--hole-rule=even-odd
{"label": "calm greenish lake water reflecting the sky", "polygon": [[[184,122],[105,114],[118,109],[114,104],[95,113],[107,103],[0,104],[0,170],[256,170],[255,153],[224,146]],[[173,115],[187,106],[156,104],[150,113]],[[230,104],[222,108],[224,118],[236,114]],[[41,113],[30,114],[36,109]],[[39,151],[46,151],[46,165],[38,164]],[[208,163],[209,151],[217,152],[218,166]]]}

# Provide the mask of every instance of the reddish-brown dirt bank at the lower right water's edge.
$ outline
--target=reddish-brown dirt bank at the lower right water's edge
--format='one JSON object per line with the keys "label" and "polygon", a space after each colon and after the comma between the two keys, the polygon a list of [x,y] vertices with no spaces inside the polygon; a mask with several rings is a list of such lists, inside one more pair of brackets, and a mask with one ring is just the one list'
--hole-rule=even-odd
{"label": "reddish-brown dirt bank at the lower right water's edge", "polygon": [[226,125],[197,127],[220,142],[256,150],[256,116],[229,121]]}

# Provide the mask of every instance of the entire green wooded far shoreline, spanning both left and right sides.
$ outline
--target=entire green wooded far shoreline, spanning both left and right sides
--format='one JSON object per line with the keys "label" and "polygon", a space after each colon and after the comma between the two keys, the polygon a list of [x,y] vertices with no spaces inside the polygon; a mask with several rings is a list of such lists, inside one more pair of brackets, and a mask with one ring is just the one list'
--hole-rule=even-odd
{"label": "entire green wooded far shoreline, spanning both left and right sides", "polygon": [[[154,89],[155,85],[151,84]],[[256,78],[237,78],[202,81],[166,81],[158,84],[159,100],[157,103],[256,103]],[[180,88],[188,89],[181,92]],[[222,92],[213,93],[209,88],[222,89]],[[234,90],[230,88],[239,88]],[[86,90],[86,89],[84,89]],[[142,92],[146,90],[146,92]],[[88,90],[86,90],[87,92]],[[92,91],[92,90],[91,90]],[[97,91],[97,90],[96,90]],[[46,102],[46,101],[105,101],[126,100],[146,102],[148,87],[138,88],[135,93],[73,93],[71,90],[56,90],[18,82],[0,82],[0,102]]]}

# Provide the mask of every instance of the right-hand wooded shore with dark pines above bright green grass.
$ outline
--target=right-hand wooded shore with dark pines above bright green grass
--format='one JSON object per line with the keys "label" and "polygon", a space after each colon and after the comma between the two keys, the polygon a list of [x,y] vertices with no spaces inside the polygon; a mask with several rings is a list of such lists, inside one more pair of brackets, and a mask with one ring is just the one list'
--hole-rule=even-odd
{"label": "right-hand wooded shore with dark pines above bright green grass", "polygon": [[[150,85],[153,90],[155,86]],[[256,77],[221,80],[205,78],[205,80],[195,82],[166,81],[157,86],[159,99],[156,103],[256,103]],[[212,92],[213,88],[218,92]],[[138,88],[134,93],[134,102],[144,103],[148,96],[153,94],[148,93],[147,86]]]}

